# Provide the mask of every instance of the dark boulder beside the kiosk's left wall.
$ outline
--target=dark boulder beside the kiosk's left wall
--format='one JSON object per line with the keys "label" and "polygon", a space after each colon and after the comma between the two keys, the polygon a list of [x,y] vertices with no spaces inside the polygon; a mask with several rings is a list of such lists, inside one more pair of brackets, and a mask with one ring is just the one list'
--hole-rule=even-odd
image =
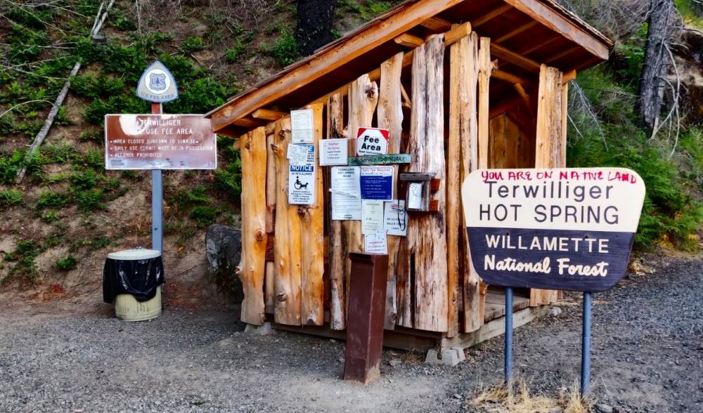
{"label": "dark boulder beside the kiosk's left wall", "polygon": [[234,274],[234,268],[242,258],[242,232],[226,225],[210,225],[205,234],[205,256],[208,273],[218,289],[233,301],[244,299],[242,282]]}

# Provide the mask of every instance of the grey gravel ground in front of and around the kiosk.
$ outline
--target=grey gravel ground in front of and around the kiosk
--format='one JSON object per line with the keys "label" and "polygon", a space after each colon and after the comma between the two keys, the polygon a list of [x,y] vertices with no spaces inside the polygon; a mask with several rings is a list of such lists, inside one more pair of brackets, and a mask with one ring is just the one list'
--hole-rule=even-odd
{"label": "grey gravel ground in front of and around the kiosk", "polygon": [[[594,396],[618,412],[703,412],[703,261],[654,268],[594,296]],[[464,412],[502,374],[502,338],[457,367],[386,350],[382,378],[364,387],[340,380],[343,343],[244,334],[236,309],[167,306],[125,323],[107,305],[10,297],[0,295],[0,412]],[[515,369],[536,393],[579,376],[578,298],[515,334]]]}

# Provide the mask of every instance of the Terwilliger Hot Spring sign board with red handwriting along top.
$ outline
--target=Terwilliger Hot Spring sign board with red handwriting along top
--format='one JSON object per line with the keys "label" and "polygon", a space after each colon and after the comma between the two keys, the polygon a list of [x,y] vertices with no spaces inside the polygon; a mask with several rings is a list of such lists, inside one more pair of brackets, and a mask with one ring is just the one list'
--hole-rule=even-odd
{"label": "Terwilliger Hot Spring sign board with red handwriting along top", "polygon": [[474,171],[462,187],[472,262],[492,285],[605,291],[625,275],[644,197],[623,168]]}

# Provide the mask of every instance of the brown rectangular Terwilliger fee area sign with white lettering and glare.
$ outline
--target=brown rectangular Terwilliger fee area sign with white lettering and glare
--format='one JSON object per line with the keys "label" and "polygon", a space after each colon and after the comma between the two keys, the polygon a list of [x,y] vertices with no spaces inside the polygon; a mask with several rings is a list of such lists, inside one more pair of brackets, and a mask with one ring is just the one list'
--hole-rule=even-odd
{"label": "brown rectangular Terwilliger fee area sign with white lettering and glare", "polygon": [[202,114],[106,114],[105,169],[216,169],[217,138]]}

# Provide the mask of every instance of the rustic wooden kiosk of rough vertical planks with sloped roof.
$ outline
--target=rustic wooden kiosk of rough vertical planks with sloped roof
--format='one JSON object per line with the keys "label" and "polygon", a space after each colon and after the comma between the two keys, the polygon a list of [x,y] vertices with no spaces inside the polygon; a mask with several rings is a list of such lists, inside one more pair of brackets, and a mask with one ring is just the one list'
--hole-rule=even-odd
{"label": "rustic wooden kiosk of rough vertical planks with sloped roof", "polygon": [[[288,203],[290,110],[305,107],[316,145],[389,129],[388,153],[412,155],[395,173],[434,178],[432,210],[408,211],[407,236],[387,236],[385,345],[501,334],[502,291],[470,263],[460,183],[479,168],[565,166],[567,84],[611,46],[551,0],[406,1],[209,112],[217,133],[240,137],[242,320],[344,335],[361,223],[330,219],[328,166],[316,168],[314,206]],[[557,294],[517,290],[515,326]]]}

